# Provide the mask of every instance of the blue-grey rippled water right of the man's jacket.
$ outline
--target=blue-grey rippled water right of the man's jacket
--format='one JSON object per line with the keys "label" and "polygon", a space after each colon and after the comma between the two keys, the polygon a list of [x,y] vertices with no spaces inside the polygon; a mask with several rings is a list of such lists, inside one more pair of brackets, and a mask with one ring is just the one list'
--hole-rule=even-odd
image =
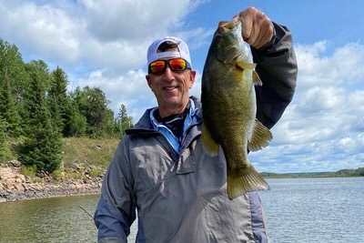
{"label": "blue-grey rippled water right of the man's jacket", "polygon": [[364,243],[364,177],[268,180],[259,193],[274,243]]}

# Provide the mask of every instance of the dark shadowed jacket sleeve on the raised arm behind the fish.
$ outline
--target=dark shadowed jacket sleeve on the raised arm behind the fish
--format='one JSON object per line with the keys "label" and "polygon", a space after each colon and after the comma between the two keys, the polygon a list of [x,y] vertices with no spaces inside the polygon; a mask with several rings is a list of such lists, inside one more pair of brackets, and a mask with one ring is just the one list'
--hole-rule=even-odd
{"label": "dark shadowed jacket sleeve on the raised arm behind the fish", "polygon": [[292,100],[296,88],[298,66],[287,27],[273,23],[275,35],[268,45],[252,48],[254,62],[263,86],[256,86],[257,118],[273,127]]}

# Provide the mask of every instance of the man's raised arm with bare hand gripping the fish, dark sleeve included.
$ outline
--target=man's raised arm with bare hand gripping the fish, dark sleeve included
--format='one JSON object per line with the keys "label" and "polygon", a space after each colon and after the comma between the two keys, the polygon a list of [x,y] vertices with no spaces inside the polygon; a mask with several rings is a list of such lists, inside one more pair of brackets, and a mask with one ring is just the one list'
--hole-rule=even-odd
{"label": "man's raised arm with bare hand gripping the fish, dark sleeve included", "polygon": [[242,37],[252,50],[263,86],[256,87],[257,117],[271,128],[292,100],[297,61],[288,28],[274,24],[267,15],[248,7],[234,16],[242,23]]}

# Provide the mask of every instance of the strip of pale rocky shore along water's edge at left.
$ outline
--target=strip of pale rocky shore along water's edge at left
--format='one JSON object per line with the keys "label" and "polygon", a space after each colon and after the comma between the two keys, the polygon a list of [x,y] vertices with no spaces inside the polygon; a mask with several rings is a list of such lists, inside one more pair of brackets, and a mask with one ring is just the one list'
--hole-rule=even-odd
{"label": "strip of pale rocky shore along water's edge at left", "polygon": [[82,179],[52,178],[38,175],[35,181],[20,173],[16,165],[0,165],[0,202],[42,197],[66,197],[100,193],[103,177]]}

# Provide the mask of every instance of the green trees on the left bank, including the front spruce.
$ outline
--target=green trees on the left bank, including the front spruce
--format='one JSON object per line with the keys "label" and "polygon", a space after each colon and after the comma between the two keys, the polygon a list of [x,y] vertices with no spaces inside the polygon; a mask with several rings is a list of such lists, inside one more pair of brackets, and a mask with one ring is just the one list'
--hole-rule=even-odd
{"label": "green trees on the left bank, including the front spruce", "polygon": [[0,38],[0,163],[15,158],[53,172],[61,163],[62,137],[122,137],[133,126],[126,106],[115,116],[99,87],[68,92],[67,84],[59,66],[25,63],[15,45]]}

